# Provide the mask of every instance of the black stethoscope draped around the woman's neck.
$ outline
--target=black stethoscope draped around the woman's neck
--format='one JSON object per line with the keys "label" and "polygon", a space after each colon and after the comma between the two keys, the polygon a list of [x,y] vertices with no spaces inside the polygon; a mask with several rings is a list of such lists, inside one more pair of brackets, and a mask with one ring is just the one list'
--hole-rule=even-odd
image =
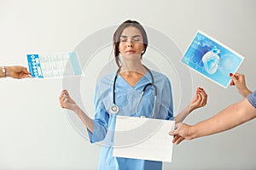
{"label": "black stethoscope draped around the woman's neck", "polygon": [[[154,115],[154,108],[155,108],[155,104],[156,104],[156,97],[157,97],[157,88],[156,86],[154,85],[154,77],[153,77],[153,74],[151,71],[149,71],[148,67],[146,67],[145,65],[143,65],[145,67],[145,69],[147,69],[147,71],[149,72],[150,74],[150,77],[151,77],[151,82],[149,82],[148,84],[146,84],[143,88],[143,92],[139,98],[139,101],[137,103],[137,106],[136,106],[136,110],[135,112],[137,113],[137,108],[138,106],[141,104],[141,101],[142,101],[142,98],[143,98],[143,94],[146,90],[146,88],[148,88],[148,86],[153,86],[154,87],[154,105],[153,105],[153,111],[150,115],[150,117],[152,117]],[[116,71],[116,74],[115,74],[115,77],[114,77],[114,80],[113,80],[113,105],[111,106],[111,109],[110,109],[110,112],[113,114],[113,115],[116,115],[118,112],[119,112],[119,106],[115,105],[115,94],[114,94],[114,90],[115,90],[115,82],[116,82],[116,79],[119,75],[119,71],[120,71],[120,68],[118,71]]]}

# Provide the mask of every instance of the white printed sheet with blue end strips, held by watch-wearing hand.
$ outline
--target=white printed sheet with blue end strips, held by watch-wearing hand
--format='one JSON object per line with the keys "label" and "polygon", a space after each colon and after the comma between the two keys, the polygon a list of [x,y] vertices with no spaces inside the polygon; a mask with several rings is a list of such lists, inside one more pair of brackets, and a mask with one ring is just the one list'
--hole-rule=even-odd
{"label": "white printed sheet with blue end strips, held by watch-wearing hand", "polygon": [[27,54],[32,77],[55,78],[84,75],[76,53]]}

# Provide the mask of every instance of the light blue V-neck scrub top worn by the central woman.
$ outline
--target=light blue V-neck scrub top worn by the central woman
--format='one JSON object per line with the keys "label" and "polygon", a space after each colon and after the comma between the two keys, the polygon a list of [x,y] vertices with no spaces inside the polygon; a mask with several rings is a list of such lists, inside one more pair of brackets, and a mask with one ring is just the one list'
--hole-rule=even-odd
{"label": "light blue V-neck scrub top worn by the central woman", "polygon": [[[154,77],[154,84],[157,87],[157,99],[154,111],[154,118],[173,119],[172,88],[169,79],[156,71],[151,71]],[[90,142],[102,144],[99,161],[99,169],[162,169],[161,161],[148,161],[113,156],[113,133],[115,129],[116,116],[110,113],[113,105],[113,79],[115,73],[103,77],[96,84],[95,92],[95,118],[94,132],[88,130]],[[119,116],[146,116],[149,117],[153,111],[154,88],[149,86],[143,94],[143,99],[137,108],[136,106],[143,88],[152,82],[147,72],[133,87],[125,79],[118,76],[115,84],[115,103],[119,106]]]}

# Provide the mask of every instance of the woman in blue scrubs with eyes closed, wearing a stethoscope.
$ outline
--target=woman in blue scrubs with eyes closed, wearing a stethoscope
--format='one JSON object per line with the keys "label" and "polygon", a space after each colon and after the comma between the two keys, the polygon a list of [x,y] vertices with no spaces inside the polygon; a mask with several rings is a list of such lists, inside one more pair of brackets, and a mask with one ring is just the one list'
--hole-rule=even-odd
{"label": "woman in blue scrubs with eyes closed, wearing a stethoscope", "polygon": [[[183,122],[191,111],[207,103],[207,94],[202,88],[197,88],[191,104],[173,117],[171,82],[165,75],[150,71],[142,64],[147,46],[146,31],[135,20],[126,20],[114,32],[113,48],[119,69],[97,82],[94,119],[90,119],[79,108],[67,90],[61,92],[61,107],[74,111],[79,116],[88,129],[91,143],[102,142],[99,169],[162,169],[161,161],[113,156],[113,132],[116,121],[116,115],[111,111],[113,104],[118,106],[119,116],[146,116]],[[146,87],[148,83],[150,85]],[[140,99],[142,93],[143,97]]]}

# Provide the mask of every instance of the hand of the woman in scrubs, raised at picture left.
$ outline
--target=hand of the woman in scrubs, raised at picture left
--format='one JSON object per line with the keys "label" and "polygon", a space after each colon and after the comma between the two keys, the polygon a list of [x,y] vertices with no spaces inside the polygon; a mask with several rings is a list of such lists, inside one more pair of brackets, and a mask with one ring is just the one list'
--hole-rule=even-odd
{"label": "hand of the woman in scrubs, raised at picture left", "polygon": [[60,97],[60,105],[63,109],[69,109],[75,111],[79,106],[74,102],[74,100],[69,96],[67,90],[62,90]]}

